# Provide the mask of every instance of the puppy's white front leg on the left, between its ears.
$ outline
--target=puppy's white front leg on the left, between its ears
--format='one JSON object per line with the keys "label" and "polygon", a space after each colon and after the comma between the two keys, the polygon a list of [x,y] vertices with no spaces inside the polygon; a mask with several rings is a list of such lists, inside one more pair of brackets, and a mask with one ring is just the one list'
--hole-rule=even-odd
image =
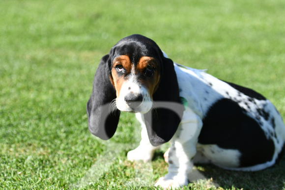
{"label": "puppy's white front leg on the left, between its ears", "polygon": [[141,113],[137,113],[136,117],[142,124],[142,140],[136,149],[128,152],[127,158],[129,161],[142,160],[143,162],[150,162],[152,160],[154,151],[159,149],[160,146],[151,145],[144,124],[143,115]]}

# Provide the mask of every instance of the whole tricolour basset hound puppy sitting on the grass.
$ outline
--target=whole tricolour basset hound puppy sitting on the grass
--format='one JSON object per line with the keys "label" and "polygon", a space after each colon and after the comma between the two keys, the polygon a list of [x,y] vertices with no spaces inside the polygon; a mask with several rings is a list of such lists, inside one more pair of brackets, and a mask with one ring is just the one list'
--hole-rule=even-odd
{"label": "whole tricolour basset hound puppy sitting on the grass", "polygon": [[278,162],[285,126],[273,104],[259,93],[188,68],[142,35],[121,39],[102,57],[86,105],[88,129],[111,138],[120,111],[136,113],[142,140],[131,161],[151,161],[171,140],[168,174],[156,186],[188,184],[193,163],[257,171]]}

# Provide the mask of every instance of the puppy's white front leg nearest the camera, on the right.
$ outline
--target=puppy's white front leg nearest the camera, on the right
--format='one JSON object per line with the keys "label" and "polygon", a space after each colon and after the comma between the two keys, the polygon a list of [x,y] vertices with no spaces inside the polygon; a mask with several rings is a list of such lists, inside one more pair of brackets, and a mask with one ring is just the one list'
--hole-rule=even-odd
{"label": "puppy's white front leg nearest the camera, on the right", "polygon": [[[184,116],[183,116],[184,117]],[[202,121],[191,115],[184,120],[172,137],[172,144],[168,155],[168,174],[161,177],[155,186],[164,189],[188,185],[187,174],[193,168],[191,161],[196,155],[196,144],[201,130]]]}

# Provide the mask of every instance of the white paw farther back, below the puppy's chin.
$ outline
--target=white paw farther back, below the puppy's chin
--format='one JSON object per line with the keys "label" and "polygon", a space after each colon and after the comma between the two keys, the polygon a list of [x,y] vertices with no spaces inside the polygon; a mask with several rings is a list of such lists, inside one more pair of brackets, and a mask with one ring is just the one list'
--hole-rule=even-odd
{"label": "white paw farther back, below the puppy's chin", "polygon": [[149,151],[149,150],[145,150],[145,149],[138,147],[134,150],[129,151],[127,154],[127,158],[129,161],[132,161],[132,162],[142,160],[144,163],[146,163],[152,160],[153,154],[154,154],[154,150]]}

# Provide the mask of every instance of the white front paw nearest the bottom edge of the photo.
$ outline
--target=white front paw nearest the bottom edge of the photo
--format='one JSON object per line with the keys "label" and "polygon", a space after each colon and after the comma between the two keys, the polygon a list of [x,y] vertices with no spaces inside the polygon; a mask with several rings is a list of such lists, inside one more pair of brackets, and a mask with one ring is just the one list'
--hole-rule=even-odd
{"label": "white front paw nearest the bottom edge of the photo", "polygon": [[183,175],[179,176],[171,176],[167,174],[165,177],[159,178],[159,180],[156,182],[155,186],[161,186],[163,189],[175,189],[182,186],[188,185],[188,179],[187,175],[186,177]]}

